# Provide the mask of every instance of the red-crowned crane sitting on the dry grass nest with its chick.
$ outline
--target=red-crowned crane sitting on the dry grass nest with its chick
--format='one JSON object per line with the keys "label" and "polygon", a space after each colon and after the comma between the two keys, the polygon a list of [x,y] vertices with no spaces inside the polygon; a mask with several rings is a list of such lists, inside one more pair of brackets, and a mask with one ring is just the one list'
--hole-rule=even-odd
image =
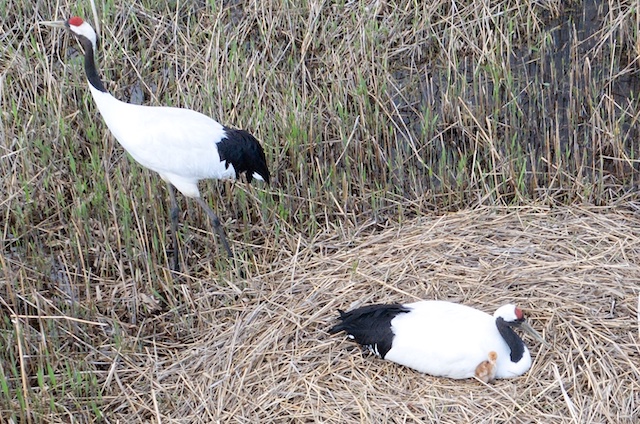
{"label": "red-crowned crane sitting on the dry grass nest with its chick", "polygon": [[545,343],[514,305],[493,316],[438,300],[339,312],[341,322],[330,333],[344,331],[371,353],[434,376],[485,382],[517,377],[531,367],[531,354],[513,329]]}

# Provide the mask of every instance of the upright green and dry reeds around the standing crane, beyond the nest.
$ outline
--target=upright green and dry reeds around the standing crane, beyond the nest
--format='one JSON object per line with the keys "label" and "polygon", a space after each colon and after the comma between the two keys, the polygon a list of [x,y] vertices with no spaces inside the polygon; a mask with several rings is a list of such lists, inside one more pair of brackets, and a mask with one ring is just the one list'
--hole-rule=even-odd
{"label": "upright green and dry reeds around the standing crane, beyond the nest", "polygon": [[136,334],[195,337],[194,292],[232,308],[319,239],[326,253],[432,212],[636,199],[633,2],[182,3],[100,5],[99,64],[120,99],[262,140],[271,187],[203,183],[248,283],[184,200],[188,275],[170,278],[164,184],[100,121],[73,40],[35,24],[89,9],[0,5],[0,407],[16,419],[95,419],[117,403],[113,352],[148,354]]}

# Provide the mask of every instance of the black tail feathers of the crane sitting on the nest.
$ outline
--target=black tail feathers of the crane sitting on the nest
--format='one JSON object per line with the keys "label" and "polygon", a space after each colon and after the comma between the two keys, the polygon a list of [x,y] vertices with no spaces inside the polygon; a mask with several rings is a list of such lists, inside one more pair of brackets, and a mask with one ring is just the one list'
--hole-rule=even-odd
{"label": "black tail feathers of the crane sitting on the nest", "polygon": [[393,344],[393,330],[391,321],[399,314],[410,312],[411,309],[397,304],[369,305],[340,313],[340,323],[329,330],[335,334],[346,332],[356,342],[384,358]]}

